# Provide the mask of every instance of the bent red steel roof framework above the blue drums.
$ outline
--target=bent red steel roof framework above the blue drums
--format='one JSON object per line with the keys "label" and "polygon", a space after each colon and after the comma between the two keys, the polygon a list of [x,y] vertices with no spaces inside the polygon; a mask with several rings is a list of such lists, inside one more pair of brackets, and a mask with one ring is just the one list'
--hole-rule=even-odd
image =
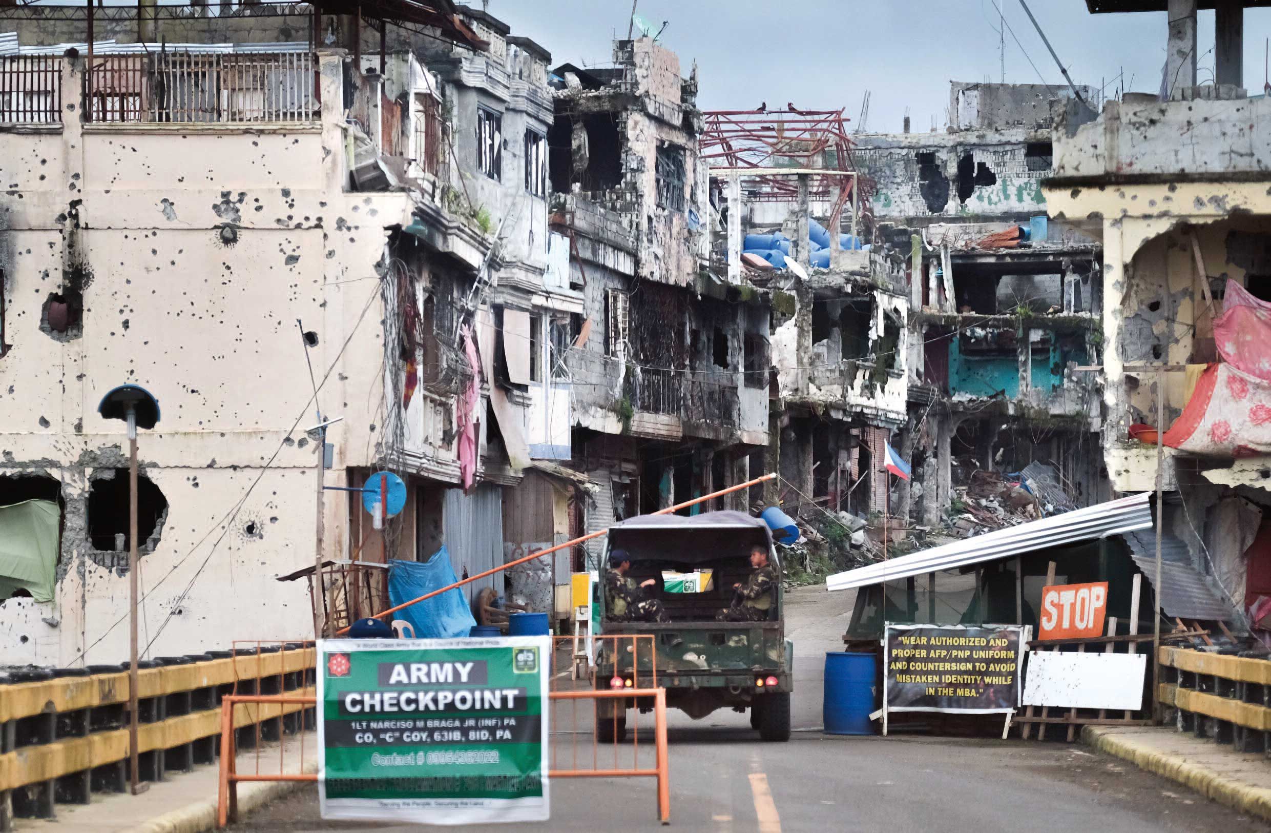
{"label": "bent red steel roof framework above the blue drums", "polygon": [[[789,174],[770,173],[771,168],[816,169],[808,177],[812,201],[833,201],[831,217],[838,217],[859,186],[859,210],[871,215],[871,181],[857,177],[853,142],[848,136],[848,117],[840,109],[712,109],[703,113],[705,130],[699,137],[700,158],[713,173],[718,169],[741,172],[741,189],[750,201],[794,202],[798,182]],[[746,174],[752,168],[763,173]],[[849,174],[849,176],[845,176]],[[846,179],[852,179],[849,186]]]}

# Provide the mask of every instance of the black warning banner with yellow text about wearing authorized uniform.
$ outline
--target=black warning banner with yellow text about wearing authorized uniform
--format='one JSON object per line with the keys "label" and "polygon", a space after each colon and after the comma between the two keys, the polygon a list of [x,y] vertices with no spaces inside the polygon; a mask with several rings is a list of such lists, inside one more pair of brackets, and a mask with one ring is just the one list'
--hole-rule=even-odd
{"label": "black warning banner with yellow text about wearing authorized uniform", "polygon": [[883,702],[888,711],[990,713],[1019,705],[1023,628],[888,624]]}

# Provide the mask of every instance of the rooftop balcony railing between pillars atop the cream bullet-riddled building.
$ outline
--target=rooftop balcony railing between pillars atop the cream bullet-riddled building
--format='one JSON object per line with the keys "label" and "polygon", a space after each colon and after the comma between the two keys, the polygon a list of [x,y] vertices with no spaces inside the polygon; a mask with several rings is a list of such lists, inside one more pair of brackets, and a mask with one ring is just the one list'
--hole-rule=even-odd
{"label": "rooftop balcony railing between pillars atop the cream bullet-riddled building", "polygon": [[94,122],[311,123],[309,52],[107,55],[85,79]]}

